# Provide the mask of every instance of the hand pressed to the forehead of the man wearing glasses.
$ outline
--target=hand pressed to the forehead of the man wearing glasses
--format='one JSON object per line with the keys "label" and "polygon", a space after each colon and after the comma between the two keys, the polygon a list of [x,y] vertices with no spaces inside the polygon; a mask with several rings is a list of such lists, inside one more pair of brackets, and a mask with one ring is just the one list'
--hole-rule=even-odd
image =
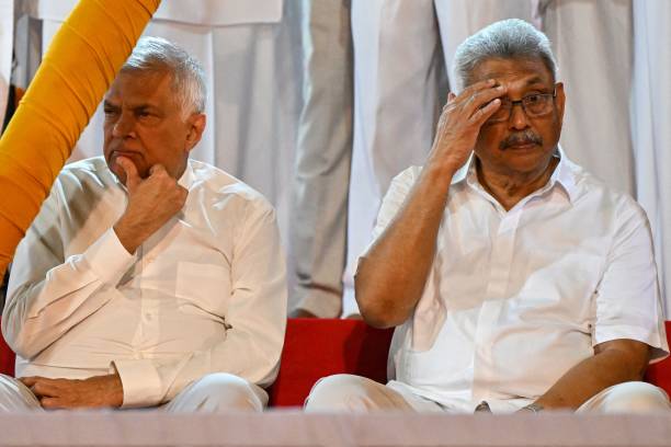
{"label": "hand pressed to the forehead of the man wearing glasses", "polygon": [[480,127],[500,107],[505,87],[493,79],[467,87],[459,95],[450,93],[439,119],[429,163],[456,172],[475,147]]}

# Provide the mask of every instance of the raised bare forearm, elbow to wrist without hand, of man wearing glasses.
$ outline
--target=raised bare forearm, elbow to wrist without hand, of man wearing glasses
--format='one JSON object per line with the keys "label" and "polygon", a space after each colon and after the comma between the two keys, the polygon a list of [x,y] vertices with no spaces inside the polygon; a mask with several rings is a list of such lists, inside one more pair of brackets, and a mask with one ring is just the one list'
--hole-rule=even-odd
{"label": "raised bare forearm, elbow to wrist without hand, of man wearing glasses", "polygon": [[420,299],[453,174],[453,170],[428,165],[394,221],[361,259],[354,285],[369,324],[401,324]]}

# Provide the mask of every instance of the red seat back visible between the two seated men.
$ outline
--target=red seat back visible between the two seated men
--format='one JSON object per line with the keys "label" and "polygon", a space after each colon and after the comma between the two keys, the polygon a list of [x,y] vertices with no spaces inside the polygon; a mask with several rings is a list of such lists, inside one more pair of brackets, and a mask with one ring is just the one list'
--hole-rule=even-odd
{"label": "red seat back visible between the two seated men", "polygon": [[393,330],[361,320],[289,319],[277,380],[269,390],[273,406],[303,405],[322,377],[349,373],[387,381]]}

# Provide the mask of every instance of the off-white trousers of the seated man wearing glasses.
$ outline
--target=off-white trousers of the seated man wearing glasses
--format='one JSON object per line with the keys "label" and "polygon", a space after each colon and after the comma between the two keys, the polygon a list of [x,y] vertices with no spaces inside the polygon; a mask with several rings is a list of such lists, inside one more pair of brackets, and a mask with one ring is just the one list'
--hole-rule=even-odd
{"label": "off-white trousers of the seated man wearing glasses", "polygon": [[[306,412],[473,412],[468,406],[446,406],[420,396],[403,392],[353,375],[336,375],[318,381],[308,397]],[[511,408],[514,411],[519,408]],[[671,410],[669,397],[653,385],[630,381],[601,391],[577,410],[577,413],[656,413]]]}

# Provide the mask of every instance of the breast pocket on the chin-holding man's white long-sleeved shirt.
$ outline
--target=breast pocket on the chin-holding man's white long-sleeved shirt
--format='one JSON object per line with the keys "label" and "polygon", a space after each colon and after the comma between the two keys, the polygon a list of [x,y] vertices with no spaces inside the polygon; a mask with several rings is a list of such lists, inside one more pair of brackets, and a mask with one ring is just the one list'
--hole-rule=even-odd
{"label": "breast pocket on the chin-holding man's white long-sleeved shirt", "polygon": [[216,264],[180,262],[175,295],[182,301],[180,309],[184,312],[206,312],[224,318],[230,298],[229,271]]}

